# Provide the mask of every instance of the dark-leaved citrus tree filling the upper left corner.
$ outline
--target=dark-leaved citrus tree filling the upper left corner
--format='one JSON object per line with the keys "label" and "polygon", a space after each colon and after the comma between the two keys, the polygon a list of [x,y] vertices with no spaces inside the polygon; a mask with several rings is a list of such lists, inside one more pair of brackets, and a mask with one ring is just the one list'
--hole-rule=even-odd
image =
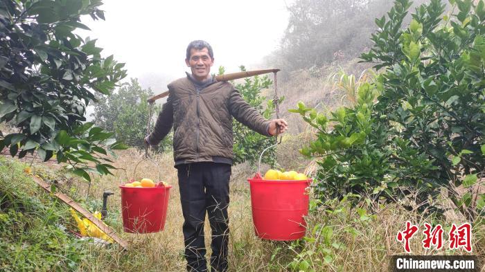
{"label": "dark-leaved citrus tree filling the upper left corner", "polygon": [[100,0],[0,2],[0,122],[18,133],[1,135],[0,149],[21,158],[36,152],[43,161],[56,156],[74,173],[109,173],[111,149],[123,149],[112,133],[85,123],[94,93],[109,94],[125,78],[124,64],[101,57],[82,15],[104,19]]}

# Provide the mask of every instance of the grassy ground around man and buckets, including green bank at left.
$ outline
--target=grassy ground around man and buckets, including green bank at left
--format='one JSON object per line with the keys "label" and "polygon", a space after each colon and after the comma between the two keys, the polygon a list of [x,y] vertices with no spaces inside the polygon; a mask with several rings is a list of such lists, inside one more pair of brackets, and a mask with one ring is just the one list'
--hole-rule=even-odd
{"label": "grassy ground around man and buckets, including green bank at left", "polygon": [[[68,207],[42,192],[30,180],[24,172],[28,165],[17,159],[0,157],[0,194],[3,196],[0,198],[0,268],[3,271],[30,271],[33,267],[39,271],[182,271],[185,266],[180,231],[183,221],[171,155],[155,157],[162,180],[173,185],[166,229],[148,235],[122,232],[118,185],[125,183],[126,174],[132,177],[134,163],[141,160],[142,154],[127,150],[118,155],[116,166],[125,171],[116,171],[114,176],[96,177],[89,194],[86,183],[58,167],[35,164],[31,170],[32,174],[57,180],[60,188],[66,189],[90,210],[99,210],[101,195],[105,190],[112,190],[115,194],[109,198],[106,222],[130,242],[127,252],[119,251],[116,246],[104,248],[80,242],[71,233],[77,230]],[[155,178],[157,172],[155,165],[144,161],[135,177]],[[425,221],[436,220],[395,205],[367,206],[362,203],[361,208],[353,209],[343,200],[340,203],[329,201],[317,208],[316,200],[312,200],[305,239],[298,242],[264,241],[254,235],[252,226],[246,179],[253,174],[249,165],[233,167],[229,207],[230,271],[287,271],[293,266],[302,271],[387,271],[388,256],[403,253],[403,246],[395,238],[403,226],[396,221],[412,219],[421,226]],[[439,222],[447,226],[457,220],[460,217],[450,213]],[[327,234],[323,235],[322,231]],[[206,244],[209,244],[209,228],[205,233]],[[473,235],[474,254],[482,255],[485,251],[484,228],[474,228]],[[424,251],[418,242],[413,242],[412,246],[416,254],[436,253]]]}

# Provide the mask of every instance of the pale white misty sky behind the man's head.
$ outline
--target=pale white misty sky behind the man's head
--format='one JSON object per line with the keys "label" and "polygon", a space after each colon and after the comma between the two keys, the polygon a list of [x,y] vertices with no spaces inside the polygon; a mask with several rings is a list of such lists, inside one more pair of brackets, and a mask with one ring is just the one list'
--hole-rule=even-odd
{"label": "pale white misty sky behind the man's head", "polygon": [[114,54],[125,62],[127,78],[139,78],[143,87],[158,92],[190,71],[185,50],[194,39],[213,46],[211,72],[220,65],[227,73],[237,72],[240,64],[251,69],[278,47],[292,1],[104,0],[106,21],[83,17],[92,31],[80,34],[98,39],[105,57]]}

